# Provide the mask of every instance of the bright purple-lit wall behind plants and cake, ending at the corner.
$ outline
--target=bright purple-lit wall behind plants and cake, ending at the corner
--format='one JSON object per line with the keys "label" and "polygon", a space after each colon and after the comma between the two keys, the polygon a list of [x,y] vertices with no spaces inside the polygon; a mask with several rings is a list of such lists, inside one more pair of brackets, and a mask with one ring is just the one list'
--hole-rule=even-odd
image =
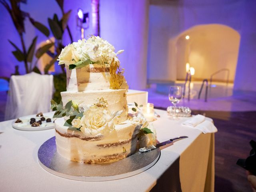
{"label": "bright purple-lit wall behind plants and cake, ending at the corner", "polygon": [[[135,6],[136,5],[136,6]],[[57,13],[61,16],[60,9],[54,0],[32,1],[28,0],[22,5],[22,10],[29,12],[37,21],[48,26],[47,18]],[[76,27],[76,12],[82,8],[89,12],[90,27],[85,30],[85,37],[93,34],[91,0],[65,0],[64,10],[72,10],[68,22],[74,41],[80,39],[80,30]],[[21,74],[24,67],[12,55],[12,46],[7,39],[16,42],[20,46],[18,34],[8,12],[0,6],[0,76],[10,76],[14,72],[14,66],[19,64]],[[101,0],[100,1],[100,35],[106,38],[116,47],[116,51],[124,49],[120,55],[121,65],[126,69],[125,76],[130,88],[141,89],[146,87],[146,50],[148,34],[148,0]],[[44,35],[38,32],[29,21],[26,21],[25,43],[28,47],[34,36],[38,35],[38,43],[46,40]],[[64,44],[70,43],[67,32],[64,34]],[[60,67],[55,65],[56,72]]]}

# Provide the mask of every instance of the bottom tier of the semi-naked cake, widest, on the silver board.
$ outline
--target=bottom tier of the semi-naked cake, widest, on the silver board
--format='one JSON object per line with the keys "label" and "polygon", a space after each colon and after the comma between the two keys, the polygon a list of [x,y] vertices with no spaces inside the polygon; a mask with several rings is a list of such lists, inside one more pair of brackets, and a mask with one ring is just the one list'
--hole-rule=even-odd
{"label": "bottom tier of the semi-naked cake, widest, on the silver board", "polygon": [[86,136],[76,128],[64,125],[64,118],[55,120],[58,153],[72,161],[105,163],[126,158],[136,151],[140,126],[126,120],[115,125],[108,135]]}

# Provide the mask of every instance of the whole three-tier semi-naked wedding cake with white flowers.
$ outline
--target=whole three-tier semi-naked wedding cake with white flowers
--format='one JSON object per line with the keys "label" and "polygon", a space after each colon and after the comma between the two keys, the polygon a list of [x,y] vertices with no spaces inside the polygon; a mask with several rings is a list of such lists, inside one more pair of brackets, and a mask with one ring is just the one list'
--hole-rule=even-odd
{"label": "whole three-tier semi-naked wedding cake with white flowers", "polygon": [[[65,64],[67,91],[52,100],[58,153],[72,161],[103,163],[136,151],[148,123],[128,116],[128,89],[114,47],[98,36],[69,44],[58,58]],[[129,119],[128,119],[129,117]],[[145,131],[144,131],[145,132]]]}

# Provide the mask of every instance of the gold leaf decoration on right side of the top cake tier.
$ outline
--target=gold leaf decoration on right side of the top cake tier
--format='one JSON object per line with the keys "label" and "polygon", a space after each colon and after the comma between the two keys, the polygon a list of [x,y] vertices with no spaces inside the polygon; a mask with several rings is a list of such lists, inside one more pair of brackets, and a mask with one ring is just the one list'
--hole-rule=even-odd
{"label": "gold leaf decoration on right side of the top cake tier", "polygon": [[113,58],[110,64],[110,89],[120,89],[123,79],[123,71]]}

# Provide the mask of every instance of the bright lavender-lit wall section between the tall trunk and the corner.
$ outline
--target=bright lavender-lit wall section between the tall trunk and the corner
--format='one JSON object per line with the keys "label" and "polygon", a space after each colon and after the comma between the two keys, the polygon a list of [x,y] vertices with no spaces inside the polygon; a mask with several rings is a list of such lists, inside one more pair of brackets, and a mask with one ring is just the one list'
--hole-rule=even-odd
{"label": "bright lavender-lit wall section between the tall trunk and the corner", "polygon": [[148,0],[100,1],[100,34],[116,51],[124,76],[132,89],[146,88]]}

